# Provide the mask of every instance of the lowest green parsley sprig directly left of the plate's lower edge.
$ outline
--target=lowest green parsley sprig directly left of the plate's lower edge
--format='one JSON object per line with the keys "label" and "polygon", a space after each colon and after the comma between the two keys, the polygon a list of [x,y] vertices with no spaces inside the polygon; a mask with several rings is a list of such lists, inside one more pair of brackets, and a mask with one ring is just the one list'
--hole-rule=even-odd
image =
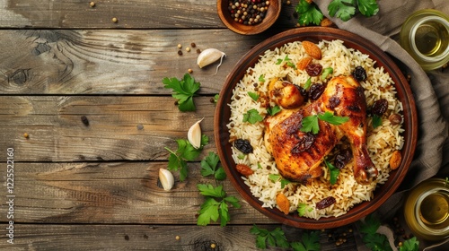
{"label": "lowest green parsley sprig directly left of the plate's lower edge", "polygon": [[207,226],[210,221],[220,218],[220,226],[225,227],[227,222],[231,221],[228,203],[234,208],[240,208],[239,200],[235,196],[227,196],[223,186],[198,184],[197,187],[199,194],[206,196],[198,213],[198,226]]}

